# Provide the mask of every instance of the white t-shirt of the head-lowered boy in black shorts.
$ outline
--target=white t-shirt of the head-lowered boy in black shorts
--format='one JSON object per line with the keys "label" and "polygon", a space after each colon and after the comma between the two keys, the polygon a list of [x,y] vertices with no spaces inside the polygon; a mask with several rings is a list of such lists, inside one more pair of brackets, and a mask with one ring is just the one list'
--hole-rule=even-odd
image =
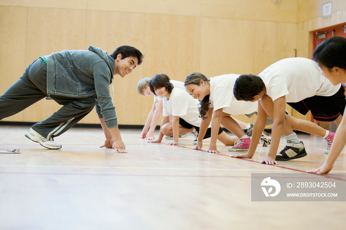
{"label": "white t-shirt of the head-lowered boy in black shorts", "polygon": [[286,96],[286,102],[299,102],[315,95],[332,96],[341,87],[341,84],[333,85],[324,77],[315,61],[301,57],[275,62],[259,77],[273,101],[282,96]]}

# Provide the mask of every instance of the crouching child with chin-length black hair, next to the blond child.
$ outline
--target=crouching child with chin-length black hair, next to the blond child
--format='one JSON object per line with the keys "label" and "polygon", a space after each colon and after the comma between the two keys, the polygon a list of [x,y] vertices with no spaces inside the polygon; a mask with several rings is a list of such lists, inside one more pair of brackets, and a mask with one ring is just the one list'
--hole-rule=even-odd
{"label": "crouching child with chin-length black hair, next to the blond child", "polygon": [[[179,134],[198,131],[202,119],[199,117],[198,100],[191,98],[185,90],[174,87],[170,78],[165,74],[156,75],[149,82],[149,87],[155,95],[163,98],[163,119],[160,127],[159,138],[151,143],[161,143],[164,135],[172,135],[173,141],[166,145],[177,145]],[[169,116],[173,120],[169,121]],[[210,134],[211,129],[207,127]],[[236,137],[227,135],[221,127],[217,130],[217,139],[225,145],[234,145]],[[207,136],[205,137],[207,138]]]}

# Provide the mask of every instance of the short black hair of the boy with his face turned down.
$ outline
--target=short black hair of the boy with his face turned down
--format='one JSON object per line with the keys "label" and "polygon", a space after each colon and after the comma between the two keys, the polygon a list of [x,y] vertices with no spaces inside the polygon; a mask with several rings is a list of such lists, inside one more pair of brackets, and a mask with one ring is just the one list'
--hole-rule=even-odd
{"label": "short black hair of the boy with his face turned down", "polygon": [[256,75],[241,75],[234,83],[233,94],[238,101],[253,101],[263,90],[263,80]]}

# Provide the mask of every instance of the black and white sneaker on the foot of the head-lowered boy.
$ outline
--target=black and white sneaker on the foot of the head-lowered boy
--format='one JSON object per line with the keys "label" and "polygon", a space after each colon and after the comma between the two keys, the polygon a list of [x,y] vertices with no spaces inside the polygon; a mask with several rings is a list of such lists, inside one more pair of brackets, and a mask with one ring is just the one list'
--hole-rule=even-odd
{"label": "black and white sneaker on the foot of the head-lowered boy", "polygon": [[306,155],[307,153],[305,151],[305,147],[302,141],[300,143],[287,143],[287,146],[276,155],[275,160],[292,160],[301,158]]}

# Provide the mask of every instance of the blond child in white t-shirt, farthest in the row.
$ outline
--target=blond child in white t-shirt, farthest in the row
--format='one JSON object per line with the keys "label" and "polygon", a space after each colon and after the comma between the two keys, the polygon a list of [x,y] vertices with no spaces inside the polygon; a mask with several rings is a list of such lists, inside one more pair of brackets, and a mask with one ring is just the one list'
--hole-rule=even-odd
{"label": "blond child in white t-shirt, farthest in the row", "polygon": [[[139,138],[145,138],[146,140],[154,140],[155,138],[154,131],[156,128],[156,124],[160,118],[160,115],[162,114],[162,98],[154,95],[154,93],[150,91],[150,88],[149,88],[150,80],[151,80],[150,77],[145,77],[140,79],[137,84],[137,91],[140,95],[154,96],[154,103],[147,116],[142,132],[139,135]],[[174,87],[185,90],[184,82],[171,80],[171,83],[174,85]],[[149,132],[148,132],[148,129],[149,129]]]}

